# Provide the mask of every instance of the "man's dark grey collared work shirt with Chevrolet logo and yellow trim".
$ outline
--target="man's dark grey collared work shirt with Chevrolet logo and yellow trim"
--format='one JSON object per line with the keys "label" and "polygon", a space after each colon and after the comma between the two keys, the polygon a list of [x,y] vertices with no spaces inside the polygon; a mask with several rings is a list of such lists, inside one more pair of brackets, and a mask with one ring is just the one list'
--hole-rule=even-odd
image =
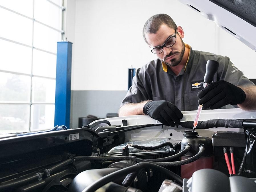
{"label": "man's dark grey collared work shirt with Chevrolet logo and yellow trim", "polygon": [[197,110],[197,94],[204,87],[205,66],[209,59],[220,63],[214,81],[225,80],[236,86],[254,86],[228,57],[189,48],[188,61],[178,75],[165,64],[162,65],[160,59],[137,69],[121,106],[146,100],[166,100],[175,104],[180,111]]}

